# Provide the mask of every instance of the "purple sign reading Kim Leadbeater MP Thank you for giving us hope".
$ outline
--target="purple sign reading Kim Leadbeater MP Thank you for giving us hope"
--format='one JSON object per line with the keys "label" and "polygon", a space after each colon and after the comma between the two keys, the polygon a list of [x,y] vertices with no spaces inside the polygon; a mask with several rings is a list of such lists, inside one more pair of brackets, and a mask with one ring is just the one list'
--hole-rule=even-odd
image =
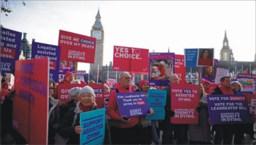
{"label": "purple sign reading Kim Leadbeater MP Thank you for giving us hope", "polygon": [[143,116],[149,113],[145,92],[116,93],[120,116]]}

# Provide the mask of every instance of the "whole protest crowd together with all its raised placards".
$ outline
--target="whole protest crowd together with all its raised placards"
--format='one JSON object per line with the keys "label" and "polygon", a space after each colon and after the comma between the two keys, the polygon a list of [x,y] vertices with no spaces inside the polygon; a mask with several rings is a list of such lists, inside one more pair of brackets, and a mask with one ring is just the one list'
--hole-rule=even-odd
{"label": "whole protest crowd together with all its raised placards", "polygon": [[[60,30],[58,46],[33,42],[31,59],[19,60],[21,33],[1,30],[16,34],[1,42],[12,57],[1,55],[1,144],[255,144],[255,74],[230,78],[214,48],[114,46],[120,74],[98,83],[71,70],[94,63],[96,38]],[[198,67],[196,82],[186,67]],[[148,79],[134,82],[135,72]]]}

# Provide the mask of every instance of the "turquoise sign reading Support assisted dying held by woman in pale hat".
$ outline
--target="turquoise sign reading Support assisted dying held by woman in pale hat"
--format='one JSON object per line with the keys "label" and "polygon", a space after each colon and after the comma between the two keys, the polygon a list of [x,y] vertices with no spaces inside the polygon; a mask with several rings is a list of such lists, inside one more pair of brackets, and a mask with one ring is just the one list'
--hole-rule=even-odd
{"label": "turquoise sign reading Support assisted dying held by woman in pale hat", "polygon": [[103,144],[105,136],[105,109],[80,114],[80,144]]}

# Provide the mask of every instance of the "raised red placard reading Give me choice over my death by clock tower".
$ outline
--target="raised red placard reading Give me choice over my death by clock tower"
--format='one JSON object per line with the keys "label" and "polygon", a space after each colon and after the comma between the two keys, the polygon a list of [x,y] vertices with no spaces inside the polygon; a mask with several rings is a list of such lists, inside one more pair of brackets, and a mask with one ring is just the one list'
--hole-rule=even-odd
{"label": "raised red placard reading Give me choice over my death by clock tower", "polygon": [[96,38],[60,30],[58,45],[60,60],[94,63]]}

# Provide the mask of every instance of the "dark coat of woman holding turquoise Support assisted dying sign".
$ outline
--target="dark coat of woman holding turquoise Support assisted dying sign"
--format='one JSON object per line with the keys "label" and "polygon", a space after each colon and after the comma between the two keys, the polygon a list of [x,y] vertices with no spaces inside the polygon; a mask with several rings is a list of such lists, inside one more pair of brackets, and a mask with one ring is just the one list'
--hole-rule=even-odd
{"label": "dark coat of woman holding turquoise Support assisted dying sign", "polygon": [[[79,107],[80,103],[81,103],[80,101],[77,102],[76,108],[69,109],[67,114],[65,114],[65,116],[63,117],[63,120],[61,120],[61,127],[59,130],[59,134],[61,135],[61,137],[69,138],[67,144],[80,144],[80,134],[77,134],[75,132],[75,127],[81,126],[80,113],[83,113],[83,111]],[[93,106],[92,110],[96,110],[96,109],[97,109],[96,105]],[[76,111],[77,111],[77,119],[74,127],[72,127],[72,123],[74,121],[74,116],[76,115]],[[111,144],[110,130],[109,130],[107,120],[105,120],[104,144]]]}

